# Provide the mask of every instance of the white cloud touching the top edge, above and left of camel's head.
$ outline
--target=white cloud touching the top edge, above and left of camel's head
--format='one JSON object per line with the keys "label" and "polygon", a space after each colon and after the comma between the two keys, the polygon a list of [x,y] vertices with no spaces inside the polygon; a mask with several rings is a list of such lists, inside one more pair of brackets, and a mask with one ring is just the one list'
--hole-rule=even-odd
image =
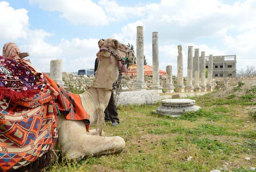
{"label": "white cloud touching the top edge, above and left of camel's head", "polygon": [[109,20],[102,7],[91,0],[29,0],[46,11],[59,11],[73,24],[105,25]]}

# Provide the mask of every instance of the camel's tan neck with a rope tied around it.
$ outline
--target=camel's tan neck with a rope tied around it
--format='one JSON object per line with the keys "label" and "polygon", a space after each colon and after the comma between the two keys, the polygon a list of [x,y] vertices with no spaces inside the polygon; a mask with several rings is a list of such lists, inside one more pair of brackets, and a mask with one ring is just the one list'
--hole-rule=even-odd
{"label": "camel's tan neck with a rope tied around it", "polygon": [[[107,69],[107,67],[99,63],[94,79],[94,85],[96,87],[112,88],[114,80],[110,79],[111,71],[105,71],[104,69]],[[82,105],[90,115],[91,125],[97,122],[97,109],[99,104],[105,110],[108,106],[111,93],[111,90],[98,88],[97,91],[97,88],[90,88],[88,91],[80,95]]]}

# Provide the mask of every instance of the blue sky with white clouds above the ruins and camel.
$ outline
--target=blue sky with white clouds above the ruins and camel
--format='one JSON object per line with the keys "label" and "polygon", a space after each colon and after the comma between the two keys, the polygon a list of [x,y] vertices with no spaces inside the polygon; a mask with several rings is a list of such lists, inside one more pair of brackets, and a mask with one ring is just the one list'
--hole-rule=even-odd
{"label": "blue sky with white clouds above the ruins and camel", "polygon": [[[256,65],[256,0],[0,0],[0,47],[16,43],[31,63],[50,71],[61,59],[63,71],[94,68],[98,40],[133,44],[143,26],[144,55],[152,65],[152,32],[159,36],[159,68],[177,75],[182,45],[184,76],[188,46],[237,56],[237,69]],[[0,53],[1,54],[1,53]]]}

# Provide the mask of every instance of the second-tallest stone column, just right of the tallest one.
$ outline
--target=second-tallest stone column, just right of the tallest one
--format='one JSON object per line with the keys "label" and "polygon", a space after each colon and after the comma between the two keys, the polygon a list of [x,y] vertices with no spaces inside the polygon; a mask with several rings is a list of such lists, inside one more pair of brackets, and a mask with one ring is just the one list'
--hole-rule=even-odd
{"label": "second-tallest stone column, just right of the tallest one", "polygon": [[152,62],[153,62],[153,84],[151,89],[156,89],[162,92],[162,87],[159,81],[159,55],[158,55],[158,32],[152,33]]}

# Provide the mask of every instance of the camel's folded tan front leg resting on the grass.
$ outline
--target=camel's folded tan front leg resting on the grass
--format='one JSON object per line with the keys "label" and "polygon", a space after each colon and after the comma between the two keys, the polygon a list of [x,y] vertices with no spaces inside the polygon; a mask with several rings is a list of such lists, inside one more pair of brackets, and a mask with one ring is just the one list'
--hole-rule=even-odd
{"label": "camel's folded tan front leg resting on the grass", "polygon": [[124,139],[119,136],[100,137],[87,135],[82,121],[71,121],[58,117],[58,124],[60,124],[58,140],[61,149],[64,155],[71,159],[81,160],[84,156],[91,154],[116,153],[125,147]]}

